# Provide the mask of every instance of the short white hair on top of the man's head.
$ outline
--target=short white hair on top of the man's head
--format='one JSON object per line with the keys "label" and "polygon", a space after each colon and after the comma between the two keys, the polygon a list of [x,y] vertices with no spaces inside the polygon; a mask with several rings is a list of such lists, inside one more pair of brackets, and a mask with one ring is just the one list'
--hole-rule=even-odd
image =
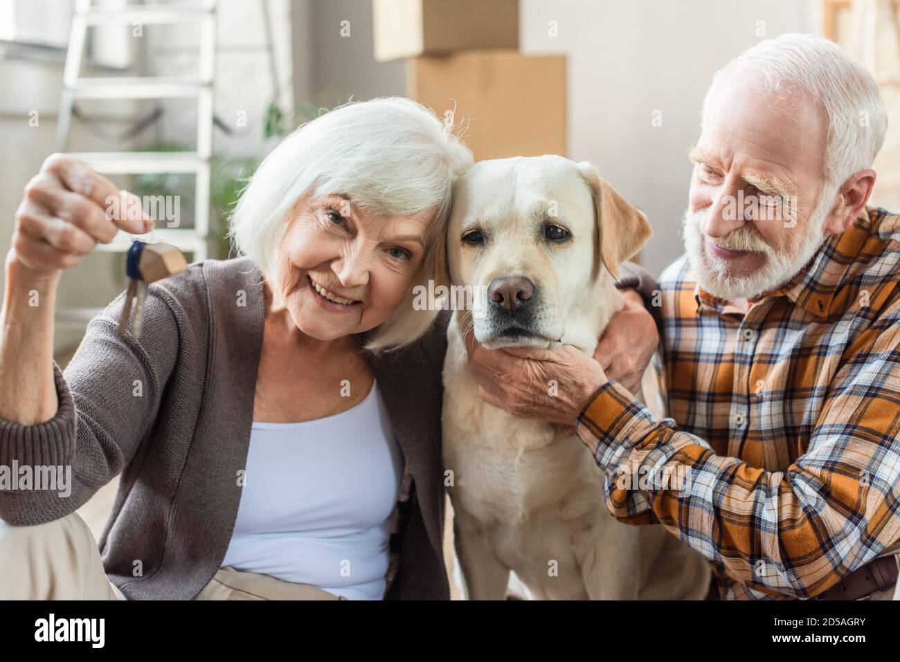
{"label": "short white hair on top of the man's head", "polygon": [[808,94],[828,118],[823,188],[837,187],[871,167],[887,133],[887,109],[866,67],[837,44],[814,34],[763,40],[713,76],[703,107],[723,75],[735,67],[753,74],[766,93]]}

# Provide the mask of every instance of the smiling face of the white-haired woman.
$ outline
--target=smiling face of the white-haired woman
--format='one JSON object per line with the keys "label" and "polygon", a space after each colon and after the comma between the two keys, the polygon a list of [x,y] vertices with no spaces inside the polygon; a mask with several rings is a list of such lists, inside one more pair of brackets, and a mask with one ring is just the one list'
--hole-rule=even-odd
{"label": "smiling face of the white-haired woman", "polygon": [[278,248],[275,287],[306,335],[334,340],[378,327],[406,299],[434,214],[374,214],[346,196],[307,194]]}

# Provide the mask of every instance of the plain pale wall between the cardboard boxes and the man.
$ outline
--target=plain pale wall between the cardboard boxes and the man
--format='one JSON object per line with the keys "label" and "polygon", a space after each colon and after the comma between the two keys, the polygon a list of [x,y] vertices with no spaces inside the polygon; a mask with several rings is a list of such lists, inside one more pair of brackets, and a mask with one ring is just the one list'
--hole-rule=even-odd
{"label": "plain pale wall between the cardboard boxes and the man", "polygon": [[[688,148],[709,80],[757,37],[818,32],[815,0],[520,0],[520,43],[569,56],[569,157],[588,160],[639,209],[653,273],[681,253]],[[548,36],[556,21],[557,37]],[[652,124],[662,113],[662,126]],[[527,112],[527,110],[525,111]],[[539,121],[535,118],[535,121]]]}

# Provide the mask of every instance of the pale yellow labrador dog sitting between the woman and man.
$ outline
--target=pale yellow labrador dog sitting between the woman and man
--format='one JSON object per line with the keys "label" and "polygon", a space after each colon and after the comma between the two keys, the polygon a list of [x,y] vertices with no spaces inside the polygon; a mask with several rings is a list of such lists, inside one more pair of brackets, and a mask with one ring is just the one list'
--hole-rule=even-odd
{"label": "pale yellow labrador dog sitting between the woman and man", "polygon": [[454,311],[444,366],[444,464],[470,599],[503,599],[510,570],[541,599],[706,595],[709,569],[696,551],[659,524],[608,513],[580,439],[482,401],[461,335],[473,324],[488,349],[562,343],[592,354],[622,307],[611,273],[650,234],[644,214],[586,162],[482,161],[456,183],[450,279],[488,299],[483,314]]}

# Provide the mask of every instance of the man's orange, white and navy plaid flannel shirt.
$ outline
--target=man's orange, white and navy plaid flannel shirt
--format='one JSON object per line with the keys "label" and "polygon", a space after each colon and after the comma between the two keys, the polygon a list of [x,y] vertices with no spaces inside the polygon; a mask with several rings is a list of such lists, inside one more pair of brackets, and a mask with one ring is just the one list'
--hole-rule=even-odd
{"label": "man's orange, white and navy plaid flannel shirt", "polygon": [[710,559],[724,598],[815,596],[900,552],[898,261],[900,216],[867,208],[746,315],[666,269],[671,418],[617,382],[579,416],[610,511]]}

